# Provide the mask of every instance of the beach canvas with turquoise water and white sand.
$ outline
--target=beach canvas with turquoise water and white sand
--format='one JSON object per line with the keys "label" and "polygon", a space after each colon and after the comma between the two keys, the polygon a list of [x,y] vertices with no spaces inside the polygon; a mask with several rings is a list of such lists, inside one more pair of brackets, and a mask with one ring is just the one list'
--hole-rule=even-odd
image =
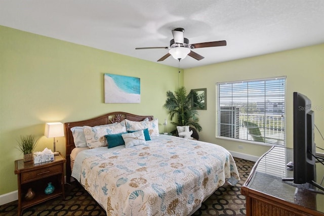
{"label": "beach canvas with turquoise water and white sand", "polygon": [[140,103],[140,78],[104,74],[105,103]]}

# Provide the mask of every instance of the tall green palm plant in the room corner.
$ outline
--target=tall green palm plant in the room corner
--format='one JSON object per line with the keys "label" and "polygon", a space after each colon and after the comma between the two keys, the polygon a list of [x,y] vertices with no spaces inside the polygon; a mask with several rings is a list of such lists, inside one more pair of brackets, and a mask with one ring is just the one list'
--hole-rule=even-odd
{"label": "tall green palm plant in the room corner", "polygon": [[198,123],[198,112],[195,106],[192,106],[193,97],[195,97],[195,93],[192,90],[187,95],[186,89],[179,87],[174,93],[171,91],[167,92],[167,100],[164,107],[168,110],[170,120],[176,117],[176,121],[171,122],[172,124],[175,126],[191,125],[200,132],[203,128]]}

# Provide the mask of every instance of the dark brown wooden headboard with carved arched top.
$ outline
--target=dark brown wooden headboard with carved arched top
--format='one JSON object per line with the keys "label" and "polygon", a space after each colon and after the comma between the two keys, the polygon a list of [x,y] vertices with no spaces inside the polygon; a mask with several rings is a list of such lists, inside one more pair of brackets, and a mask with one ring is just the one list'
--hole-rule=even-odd
{"label": "dark brown wooden headboard with carved arched top", "polygon": [[82,121],[74,121],[74,122],[66,122],[64,123],[65,127],[65,142],[66,142],[66,181],[70,182],[71,177],[71,166],[70,166],[70,154],[71,151],[75,148],[73,136],[71,132],[71,128],[75,126],[96,126],[102,124],[110,124],[114,122],[119,122],[124,119],[128,119],[130,121],[142,121],[145,118],[149,120],[153,120],[152,115],[135,115],[127,112],[111,112],[107,113],[95,118],[82,120]]}

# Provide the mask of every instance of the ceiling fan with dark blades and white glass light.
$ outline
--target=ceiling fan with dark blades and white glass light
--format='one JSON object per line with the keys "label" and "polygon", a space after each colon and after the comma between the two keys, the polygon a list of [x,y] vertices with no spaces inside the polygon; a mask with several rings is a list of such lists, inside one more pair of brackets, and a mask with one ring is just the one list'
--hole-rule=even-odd
{"label": "ceiling fan with dark blades and white glass light", "polygon": [[141,47],[141,48],[135,48],[135,50],[145,50],[145,49],[169,50],[169,53],[167,53],[165,56],[157,60],[158,62],[160,62],[160,61],[164,61],[169,56],[172,56],[173,58],[180,61],[181,59],[184,59],[187,55],[196,60],[201,60],[204,59],[205,57],[200,56],[199,54],[193,52],[192,49],[226,46],[226,40],[189,44],[189,40],[183,37],[183,33],[184,33],[183,28],[176,28],[172,30],[173,39],[170,40],[170,47]]}

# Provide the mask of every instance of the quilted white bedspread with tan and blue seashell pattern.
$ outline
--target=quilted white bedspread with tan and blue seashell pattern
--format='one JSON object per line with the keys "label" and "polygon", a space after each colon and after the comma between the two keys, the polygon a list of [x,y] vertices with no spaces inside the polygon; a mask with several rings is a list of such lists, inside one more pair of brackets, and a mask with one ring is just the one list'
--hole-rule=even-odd
{"label": "quilted white bedspread with tan and blue seashell pattern", "polygon": [[91,156],[80,183],[107,215],[187,215],[228,179],[235,161],[221,146],[173,136]]}

